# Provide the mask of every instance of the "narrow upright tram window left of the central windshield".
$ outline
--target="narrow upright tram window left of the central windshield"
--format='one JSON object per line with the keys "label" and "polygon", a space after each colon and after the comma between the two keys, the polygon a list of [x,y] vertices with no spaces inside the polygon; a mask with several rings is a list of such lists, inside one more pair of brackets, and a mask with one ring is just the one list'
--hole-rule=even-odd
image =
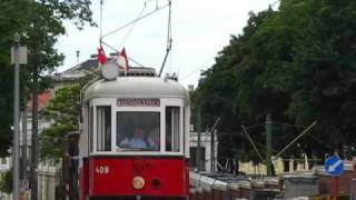
{"label": "narrow upright tram window left of the central windshield", "polygon": [[97,148],[111,151],[111,107],[97,107]]}

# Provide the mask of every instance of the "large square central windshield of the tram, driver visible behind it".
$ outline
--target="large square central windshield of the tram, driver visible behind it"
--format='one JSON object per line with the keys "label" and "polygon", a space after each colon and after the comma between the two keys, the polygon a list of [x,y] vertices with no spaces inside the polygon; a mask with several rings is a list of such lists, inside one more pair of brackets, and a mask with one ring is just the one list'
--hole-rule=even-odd
{"label": "large square central windshield of the tram, driver visible behind it", "polygon": [[159,151],[159,112],[117,112],[117,150]]}

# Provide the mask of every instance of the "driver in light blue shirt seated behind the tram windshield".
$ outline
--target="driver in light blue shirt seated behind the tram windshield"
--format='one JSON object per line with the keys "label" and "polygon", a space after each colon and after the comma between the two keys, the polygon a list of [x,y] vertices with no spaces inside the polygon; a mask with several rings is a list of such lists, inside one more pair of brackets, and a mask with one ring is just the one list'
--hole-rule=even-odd
{"label": "driver in light blue shirt seated behind the tram windshield", "polygon": [[142,128],[142,126],[136,127],[134,136],[131,138],[125,138],[120,142],[120,147],[148,150],[157,149],[155,141],[148,137],[147,131]]}

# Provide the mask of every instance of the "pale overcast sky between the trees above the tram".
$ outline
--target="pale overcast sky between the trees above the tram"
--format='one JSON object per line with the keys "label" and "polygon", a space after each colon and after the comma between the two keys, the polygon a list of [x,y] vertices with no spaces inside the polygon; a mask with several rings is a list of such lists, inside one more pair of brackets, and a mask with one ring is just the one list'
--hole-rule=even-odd
{"label": "pale overcast sky between the trees above the tram", "polygon": [[[146,2],[146,7],[145,7]],[[184,84],[197,84],[200,70],[215,62],[217,53],[228,44],[231,34],[241,33],[248,12],[266,10],[275,0],[172,0],[171,30],[172,49],[164,73],[176,72]],[[103,0],[102,33],[106,34],[132,20],[167,3],[167,0]],[[100,24],[100,0],[92,0],[93,19]],[[152,16],[112,33],[103,40],[121,50],[145,67],[158,72],[167,44],[168,7]],[[77,30],[66,23],[67,34],[59,39],[57,48],[66,56],[59,71],[77,64],[76,51],[80,61],[97,53],[99,28],[85,27]],[[129,34],[128,34],[129,33]],[[126,39],[125,39],[126,38]],[[107,54],[113,52],[103,46]],[[130,66],[137,66],[129,62]]]}

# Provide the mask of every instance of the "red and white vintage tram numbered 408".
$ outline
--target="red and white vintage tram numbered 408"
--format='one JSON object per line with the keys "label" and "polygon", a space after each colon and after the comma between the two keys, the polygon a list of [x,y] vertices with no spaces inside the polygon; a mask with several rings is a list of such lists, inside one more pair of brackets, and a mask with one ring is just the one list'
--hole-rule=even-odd
{"label": "red and white vintage tram numbered 408", "polygon": [[188,199],[188,92],[132,71],[83,91],[80,199]]}

